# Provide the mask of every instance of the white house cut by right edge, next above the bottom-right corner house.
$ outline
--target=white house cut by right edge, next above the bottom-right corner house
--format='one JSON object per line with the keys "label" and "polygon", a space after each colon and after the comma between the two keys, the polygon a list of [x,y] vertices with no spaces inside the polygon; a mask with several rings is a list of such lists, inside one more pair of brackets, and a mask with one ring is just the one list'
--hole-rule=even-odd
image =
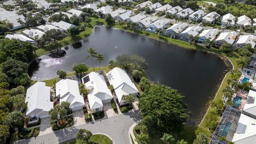
{"label": "white house cut by right edge, next above the bottom-right corner house", "polygon": [[247,100],[244,105],[243,113],[256,119],[256,92],[250,90],[247,95]]}

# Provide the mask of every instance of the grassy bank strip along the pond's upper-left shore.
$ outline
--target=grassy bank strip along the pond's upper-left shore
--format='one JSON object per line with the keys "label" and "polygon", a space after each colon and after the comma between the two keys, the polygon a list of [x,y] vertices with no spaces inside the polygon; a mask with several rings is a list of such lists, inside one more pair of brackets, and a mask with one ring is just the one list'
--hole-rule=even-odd
{"label": "grassy bank strip along the pond's upper-left shore", "polygon": [[[103,20],[103,19],[91,18],[90,25],[87,25],[86,26],[86,30],[85,31],[81,31],[81,33],[78,36],[76,36],[76,37],[67,36],[67,37],[61,39],[60,41],[57,41],[57,43],[55,43],[55,44],[54,43],[50,43],[50,44],[47,44],[47,45],[45,45],[43,47],[39,47],[36,50],[36,54],[38,56],[40,56],[40,55],[49,53],[52,50],[58,49],[60,47],[66,46],[68,44],[72,44],[74,42],[80,41],[80,40],[90,36],[90,34],[92,33],[93,27],[95,25],[97,25],[96,20],[98,20],[100,22],[103,22],[103,24],[106,25],[106,21]],[[81,25],[82,24],[83,23],[81,23]]]}

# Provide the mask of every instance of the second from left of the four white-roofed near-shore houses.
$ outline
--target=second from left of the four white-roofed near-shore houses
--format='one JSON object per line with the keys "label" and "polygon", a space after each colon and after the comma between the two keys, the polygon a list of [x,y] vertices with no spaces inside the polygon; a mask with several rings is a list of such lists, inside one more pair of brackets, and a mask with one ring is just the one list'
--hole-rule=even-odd
{"label": "second from left of the four white-roofed near-shore houses", "polygon": [[56,97],[69,102],[71,110],[82,109],[85,106],[84,98],[79,92],[78,82],[72,79],[61,79],[56,83]]}

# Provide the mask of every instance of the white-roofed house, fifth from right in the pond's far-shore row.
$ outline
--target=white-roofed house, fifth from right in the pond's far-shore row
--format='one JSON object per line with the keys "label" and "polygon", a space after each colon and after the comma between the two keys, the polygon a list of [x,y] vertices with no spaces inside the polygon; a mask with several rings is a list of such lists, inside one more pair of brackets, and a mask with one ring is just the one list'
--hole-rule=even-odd
{"label": "white-roofed house, fifth from right in the pond's far-shore row", "polygon": [[187,22],[184,23],[175,23],[170,28],[164,30],[164,35],[175,38],[181,31],[183,31],[188,26]]}

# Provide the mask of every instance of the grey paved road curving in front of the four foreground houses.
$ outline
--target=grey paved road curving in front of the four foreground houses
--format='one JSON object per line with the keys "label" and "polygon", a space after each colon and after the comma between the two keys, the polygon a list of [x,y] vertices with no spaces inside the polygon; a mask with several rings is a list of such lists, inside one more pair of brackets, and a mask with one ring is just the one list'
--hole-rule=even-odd
{"label": "grey paved road curving in front of the four foreground houses", "polygon": [[129,113],[113,116],[101,121],[82,124],[75,127],[69,127],[49,134],[40,135],[36,138],[30,138],[26,140],[20,140],[15,144],[23,143],[62,143],[76,138],[76,133],[79,129],[90,130],[92,133],[104,133],[109,135],[115,142],[115,144],[130,144],[129,140],[129,128],[133,123],[140,120],[138,110],[130,111]]}

